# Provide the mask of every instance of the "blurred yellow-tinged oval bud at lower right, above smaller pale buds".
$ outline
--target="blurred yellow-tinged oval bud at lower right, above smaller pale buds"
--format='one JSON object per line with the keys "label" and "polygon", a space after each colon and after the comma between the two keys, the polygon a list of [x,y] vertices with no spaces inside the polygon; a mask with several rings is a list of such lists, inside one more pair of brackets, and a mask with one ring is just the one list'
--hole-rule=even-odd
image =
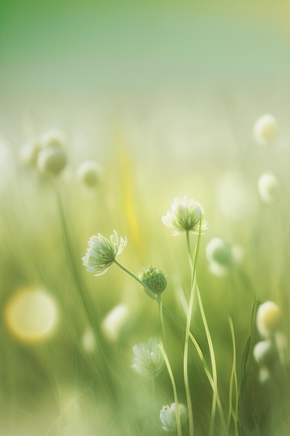
{"label": "blurred yellow-tinged oval bud at lower right, above smaller pale buds", "polygon": [[257,329],[259,334],[270,337],[275,334],[282,318],[281,309],[274,302],[264,302],[257,310]]}

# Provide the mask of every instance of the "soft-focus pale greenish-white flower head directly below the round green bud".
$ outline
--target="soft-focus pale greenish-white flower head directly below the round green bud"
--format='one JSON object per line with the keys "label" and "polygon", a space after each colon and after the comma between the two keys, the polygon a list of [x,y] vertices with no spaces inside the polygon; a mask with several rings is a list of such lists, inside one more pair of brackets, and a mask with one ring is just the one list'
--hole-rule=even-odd
{"label": "soft-focus pale greenish-white flower head directly below the round green bud", "polygon": [[151,338],[147,343],[134,345],[134,361],[131,365],[136,373],[151,378],[159,374],[164,366],[164,358],[159,347],[159,341]]}

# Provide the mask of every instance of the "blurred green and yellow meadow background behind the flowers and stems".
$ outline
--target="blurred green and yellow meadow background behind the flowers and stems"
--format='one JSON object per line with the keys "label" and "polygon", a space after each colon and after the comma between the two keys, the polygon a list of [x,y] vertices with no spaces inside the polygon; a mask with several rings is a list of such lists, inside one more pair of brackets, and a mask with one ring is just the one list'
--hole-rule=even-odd
{"label": "blurred green and yellow meadow background behind the flowers and stems", "polygon": [[[234,320],[240,359],[255,298],[277,302],[289,331],[289,13],[287,1],[1,1],[1,307],[15,290],[39,286],[60,311],[58,329],[44,343],[22,343],[2,322],[3,435],[160,434],[159,410],[173,400],[166,371],[152,411],[146,382],[129,368],[131,347],[161,334],[157,307],[115,265],[104,277],[92,277],[81,256],[93,234],[108,237],[115,228],[127,235],[120,261],[136,274],[149,264],[163,269],[164,301],[182,317],[177,289],[189,280],[185,241],[161,223],[175,196],[193,196],[207,215],[198,277],[226,405],[232,366],[227,316]],[[267,112],[279,125],[274,148],[257,146],[252,136],[255,120]],[[65,251],[58,188],[18,159],[27,139],[51,128],[67,135],[61,189],[74,264]],[[74,177],[86,159],[99,162],[104,173],[90,196]],[[229,170],[247,186],[234,220],[223,215],[218,191]],[[268,170],[283,186],[271,208],[261,204],[256,187]],[[216,235],[245,252],[239,270],[220,278],[209,273],[204,251]],[[98,350],[83,350],[88,320],[77,267],[100,322],[116,304],[129,307],[118,341],[108,341],[121,419],[108,405]],[[168,330],[184,400],[183,336],[170,322]],[[194,333],[208,357],[198,313]],[[190,365],[197,435],[203,435],[211,391],[195,352]],[[269,394],[254,377],[250,388],[257,396],[248,398],[250,426],[260,408],[269,434],[287,435],[288,415],[277,412],[283,386],[277,382]],[[149,412],[156,433],[146,426]]]}

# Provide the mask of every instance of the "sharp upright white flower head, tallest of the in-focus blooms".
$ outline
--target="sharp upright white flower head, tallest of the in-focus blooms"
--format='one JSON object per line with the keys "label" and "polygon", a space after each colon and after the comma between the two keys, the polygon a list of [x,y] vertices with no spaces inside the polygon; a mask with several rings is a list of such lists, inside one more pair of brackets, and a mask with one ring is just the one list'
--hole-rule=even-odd
{"label": "sharp upright white flower head, tallest of the in-focus blooms", "polygon": [[200,219],[202,219],[202,230],[207,228],[204,221],[204,210],[200,203],[193,198],[188,200],[185,195],[182,200],[175,198],[171,204],[171,210],[163,215],[162,222],[169,228],[173,228],[173,235],[179,235],[184,231],[198,233],[200,228]]}

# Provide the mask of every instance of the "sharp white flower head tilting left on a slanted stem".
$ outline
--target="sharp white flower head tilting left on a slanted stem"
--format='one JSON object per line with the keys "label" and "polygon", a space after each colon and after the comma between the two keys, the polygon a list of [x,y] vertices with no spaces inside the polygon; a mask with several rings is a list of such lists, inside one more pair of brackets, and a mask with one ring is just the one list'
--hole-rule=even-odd
{"label": "sharp white flower head tilting left on a slanted stem", "polygon": [[87,267],[88,272],[95,276],[102,276],[108,271],[115,258],[122,253],[127,245],[127,237],[118,238],[117,232],[113,230],[110,240],[104,238],[100,233],[92,236],[88,240],[88,249],[86,256],[83,256],[83,265]]}

